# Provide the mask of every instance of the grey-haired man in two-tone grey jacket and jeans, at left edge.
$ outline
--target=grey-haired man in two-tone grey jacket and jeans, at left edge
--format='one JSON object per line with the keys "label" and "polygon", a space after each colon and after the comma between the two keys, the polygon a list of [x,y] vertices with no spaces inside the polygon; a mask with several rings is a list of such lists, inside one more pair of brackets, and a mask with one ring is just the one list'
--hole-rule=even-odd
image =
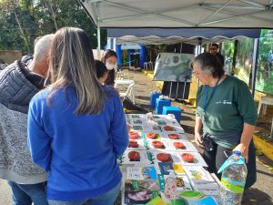
{"label": "grey-haired man in two-tone grey jacket and jeans, at left edge", "polygon": [[41,37],[35,44],[34,59],[0,72],[0,178],[13,191],[13,205],[47,205],[47,175],[30,157],[27,147],[27,111],[32,97],[44,87],[47,57],[54,35]]}

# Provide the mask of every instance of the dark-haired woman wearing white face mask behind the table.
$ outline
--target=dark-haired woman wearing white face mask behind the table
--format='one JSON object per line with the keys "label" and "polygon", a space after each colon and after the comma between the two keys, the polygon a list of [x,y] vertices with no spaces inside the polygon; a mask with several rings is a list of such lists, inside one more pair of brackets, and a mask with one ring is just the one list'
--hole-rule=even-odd
{"label": "dark-haired woman wearing white face mask behind the table", "polygon": [[105,81],[106,86],[114,87],[115,85],[116,59],[116,52],[110,49],[107,49],[101,58],[101,61],[106,65],[107,70],[109,70],[108,77]]}

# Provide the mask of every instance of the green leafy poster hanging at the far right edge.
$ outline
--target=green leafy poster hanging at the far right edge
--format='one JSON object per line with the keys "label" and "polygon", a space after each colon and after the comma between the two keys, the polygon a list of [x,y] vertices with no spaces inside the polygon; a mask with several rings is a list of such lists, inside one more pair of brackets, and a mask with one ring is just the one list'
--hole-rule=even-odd
{"label": "green leafy poster hanging at the far right edge", "polygon": [[256,89],[273,95],[273,30],[261,30]]}

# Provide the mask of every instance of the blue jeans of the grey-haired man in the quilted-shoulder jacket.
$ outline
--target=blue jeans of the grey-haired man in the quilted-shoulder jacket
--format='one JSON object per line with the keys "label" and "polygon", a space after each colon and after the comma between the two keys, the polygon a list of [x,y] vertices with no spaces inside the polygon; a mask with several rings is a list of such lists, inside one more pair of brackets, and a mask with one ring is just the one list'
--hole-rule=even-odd
{"label": "blue jeans of the grey-haired man in the quilted-shoulder jacket", "polygon": [[13,205],[48,205],[46,200],[46,182],[38,184],[17,184],[7,181],[13,191]]}

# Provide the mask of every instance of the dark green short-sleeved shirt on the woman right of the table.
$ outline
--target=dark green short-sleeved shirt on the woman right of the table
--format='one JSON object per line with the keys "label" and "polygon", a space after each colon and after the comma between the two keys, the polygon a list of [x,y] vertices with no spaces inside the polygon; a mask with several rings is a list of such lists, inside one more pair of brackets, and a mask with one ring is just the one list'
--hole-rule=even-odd
{"label": "dark green short-sleeved shirt on the woman right of the table", "polygon": [[[207,89],[207,110],[203,131],[210,134],[214,141],[228,149],[233,149],[239,142],[243,124],[256,125],[257,108],[248,86],[237,77],[227,76],[217,86],[211,97],[213,87]],[[204,113],[206,86],[197,91],[197,116]],[[233,138],[232,133],[235,134]],[[228,137],[227,137],[228,136]]]}

